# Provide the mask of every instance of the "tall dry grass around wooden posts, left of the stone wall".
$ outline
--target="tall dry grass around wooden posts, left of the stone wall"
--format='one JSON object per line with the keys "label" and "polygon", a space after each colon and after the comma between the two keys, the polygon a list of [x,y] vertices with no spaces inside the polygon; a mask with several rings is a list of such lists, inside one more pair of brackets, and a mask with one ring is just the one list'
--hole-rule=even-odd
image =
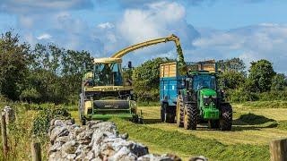
{"label": "tall dry grass around wooden posts, left of the stone wall", "polygon": [[[8,156],[6,160],[30,160],[30,142],[32,141],[32,123],[38,112],[26,110],[20,103],[0,102],[4,106],[13,107],[16,113],[16,121],[7,126]],[[48,138],[38,140],[41,143],[42,159],[47,160]],[[2,140],[0,140],[0,160],[4,160]]]}

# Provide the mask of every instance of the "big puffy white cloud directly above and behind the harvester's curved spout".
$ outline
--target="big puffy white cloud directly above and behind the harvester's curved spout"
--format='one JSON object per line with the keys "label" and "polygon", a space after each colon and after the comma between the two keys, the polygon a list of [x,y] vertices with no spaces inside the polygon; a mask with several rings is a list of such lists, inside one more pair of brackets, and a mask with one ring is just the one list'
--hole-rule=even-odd
{"label": "big puffy white cloud directly above and behind the harvester's curved spout", "polygon": [[[117,37],[127,45],[134,45],[152,38],[163,38],[175,34],[184,49],[192,48],[192,41],[199,33],[186,21],[186,10],[182,4],[160,1],[144,4],[142,8],[126,9],[123,18],[117,22]],[[176,48],[172,42],[152,47],[144,47],[130,54],[127,59],[143,63],[154,56],[175,57]]]}

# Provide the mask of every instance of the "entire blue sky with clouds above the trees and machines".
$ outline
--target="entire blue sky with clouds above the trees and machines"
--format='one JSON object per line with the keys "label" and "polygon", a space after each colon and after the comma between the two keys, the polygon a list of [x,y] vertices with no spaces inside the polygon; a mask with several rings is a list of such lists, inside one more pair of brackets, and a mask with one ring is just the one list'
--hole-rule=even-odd
{"label": "entire blue sky with clouds above the trees and machines", "polygon": [[[240,57],[248,65],[265,58],[287,73],[286,7],[285,0],[1,0],[0,31],[95,57],[174,33],[187,61]],[[124,60],[157,56],[175,58],[174,45],[143,48]]]}

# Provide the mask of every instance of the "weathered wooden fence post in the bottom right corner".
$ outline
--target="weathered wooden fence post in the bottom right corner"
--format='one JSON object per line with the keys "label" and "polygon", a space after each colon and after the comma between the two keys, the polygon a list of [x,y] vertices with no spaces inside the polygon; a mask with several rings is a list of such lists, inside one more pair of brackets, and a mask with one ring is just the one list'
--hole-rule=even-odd
{"label": "weathered wooden fence post in the bottom right corner", "polygon": [[287,139],[272,140],[269,148],[271,161],[287,160]]}

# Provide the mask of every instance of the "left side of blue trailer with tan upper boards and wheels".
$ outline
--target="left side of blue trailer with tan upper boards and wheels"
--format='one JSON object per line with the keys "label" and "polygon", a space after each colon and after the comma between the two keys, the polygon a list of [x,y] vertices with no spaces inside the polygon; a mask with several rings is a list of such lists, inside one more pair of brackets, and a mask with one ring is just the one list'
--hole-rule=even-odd
{"label": "left side of blue trailer with tan upper boards and wheels", "polygon": [[174,123],[176,116],[177,97],[182,87],[182,79],[178,75],[178,64],[169,63],[160,66],[160,100],[161,122]]}

